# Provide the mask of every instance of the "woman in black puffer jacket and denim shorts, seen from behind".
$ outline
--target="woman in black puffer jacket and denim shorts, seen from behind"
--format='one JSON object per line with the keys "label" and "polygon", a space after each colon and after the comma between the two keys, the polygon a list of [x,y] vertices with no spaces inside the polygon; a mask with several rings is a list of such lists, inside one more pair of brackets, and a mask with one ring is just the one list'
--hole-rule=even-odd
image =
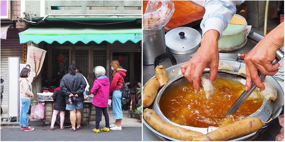
{"label": "woman in black puffer jacket and denim shorts, seen from behind", "polygon": [[[70,112],[72,128],[69,130],[72,132],[82,129],[80,126],[81,109],[83,109],[84,101],[83,92],[87,85],[83,75],[76,73],[75,69],[75,65],[70,64],[68,66],[68,74],[64,75],[60,82],[60,90],[65,96],[66,110]],[[77,94],[72,94],[71,92],[77,92]],[[75,128],[75,122],[77,122],[77,128]]]}

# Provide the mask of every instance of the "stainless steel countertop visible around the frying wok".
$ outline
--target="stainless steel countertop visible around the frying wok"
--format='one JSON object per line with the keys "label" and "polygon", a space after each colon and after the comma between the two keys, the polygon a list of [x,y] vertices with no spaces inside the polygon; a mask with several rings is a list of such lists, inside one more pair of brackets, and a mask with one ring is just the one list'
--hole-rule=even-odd
{"label": "stainless steel countertop visible around the frying wok", "polygon": [[[202,33],[202,30],[200,29],[200,25],[193,26],[192,28],[194,28],[194,29],[198,30],[200,33]],[[146,40],[146,39],[144,39],[144,40]],[[241,49],[231,51],[231,52],[223,52],[223,53],[237,54],[237,53],[249,52],[256,44],[257,44],[257,41],[255,41],[254,39],[248,38],[247,43]],[[191,58],[190,55],[192,55],[195,52],[184,54],[184,55],[173,54],[173,53],[168,52],[168,51],[166,53],[172,54],[175,57],[177,64],[179,64],[179,63],[184,63],[184,62],[189,61]],[[239,61],[244,62],[241,59],[239,59]],[[159,64],[163,65],[164,68],[168,68],[168,67],[172,66],[169,59],[165,59],[162,62],[160,62]],[[154,65],[143,65],[143,84],[145,84],[151,77],[153,77],[155,75],[154,71],[155,71]],[[275,141],[275,137],[276,137],[276,135],[279,134],[280,129],[281,129],[281,126],[279,125],[279,123],[275,123],[275,124],[269,126],[269,128],[264,133],[262,133],[262,135],[253,139],[253,141]],[[143,124],[143,141],[163,141],[163,140],[160,139],[158,136],[156,136],[150,129],[148,129]]]}

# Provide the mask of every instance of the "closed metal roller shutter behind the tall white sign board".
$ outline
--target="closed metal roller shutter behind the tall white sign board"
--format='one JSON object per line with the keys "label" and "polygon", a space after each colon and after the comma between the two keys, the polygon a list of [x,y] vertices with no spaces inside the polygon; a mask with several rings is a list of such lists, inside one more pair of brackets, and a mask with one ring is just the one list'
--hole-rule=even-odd
{"label": "closed metal roller shutter behind the tall white sign board", "polygon": [[20,57],[20,63],[23,63],[23,44],[20,44],[19,38],[1,39],[1,73],[4,79],[4,92],[2,107],[8,107],[8,57]]}

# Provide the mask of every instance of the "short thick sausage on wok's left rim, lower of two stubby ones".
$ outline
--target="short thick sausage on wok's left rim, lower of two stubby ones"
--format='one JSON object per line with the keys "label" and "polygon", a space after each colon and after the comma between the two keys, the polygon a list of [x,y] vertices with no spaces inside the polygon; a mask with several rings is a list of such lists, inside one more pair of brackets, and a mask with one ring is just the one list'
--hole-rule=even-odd
{"label": "short thick sausage on wok's left rim, lower of two stubby ones", "polygon": [[143,90],[143,107],[149,107],[154,101],[159,88],[156,78],[149,80]]}

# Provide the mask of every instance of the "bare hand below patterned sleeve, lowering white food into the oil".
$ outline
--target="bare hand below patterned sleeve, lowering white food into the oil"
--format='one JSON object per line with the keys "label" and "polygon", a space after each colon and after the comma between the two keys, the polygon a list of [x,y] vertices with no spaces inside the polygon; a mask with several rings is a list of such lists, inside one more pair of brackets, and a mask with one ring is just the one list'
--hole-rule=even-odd
{"label": "bare hand below patterned sleeve, lowering white food into the oil", "polygon": [[193,83],[195,92],[200,90],[200,76],[205,67],[210,68],[209,79],[214,84],[219,65],[218,39],[219,32],[216,30],[212,29],[204,33],[196,54],[181,66],[182,74],[190,83]]}

